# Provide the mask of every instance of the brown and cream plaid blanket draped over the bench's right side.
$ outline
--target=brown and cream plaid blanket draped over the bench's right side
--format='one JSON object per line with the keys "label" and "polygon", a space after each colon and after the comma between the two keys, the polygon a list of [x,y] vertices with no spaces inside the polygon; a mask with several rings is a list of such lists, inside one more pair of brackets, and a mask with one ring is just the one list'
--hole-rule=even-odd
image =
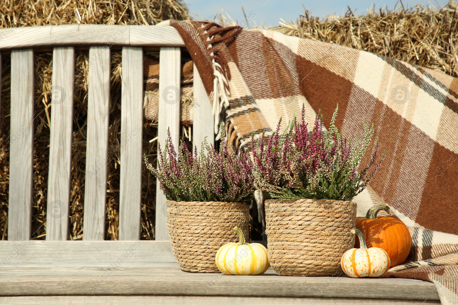
{"label": "brown and cream plaid blanket draped over the bench's right side", "polygon": [[321,108],[329,123],[338,103],[336,126],[348,138],[363,134],[363,120],[374,123],[387,157],[371,187],[354,198],[358,214],[388,204],[409,227],[413,246],[408,263],[387,276],[431,281],[443,304],[458,304],[458,79],[275,31],[163,24],[180,32],[196,64],[213,101],[215,133],[225,122],[237,149],[303,104],[308,122]]}

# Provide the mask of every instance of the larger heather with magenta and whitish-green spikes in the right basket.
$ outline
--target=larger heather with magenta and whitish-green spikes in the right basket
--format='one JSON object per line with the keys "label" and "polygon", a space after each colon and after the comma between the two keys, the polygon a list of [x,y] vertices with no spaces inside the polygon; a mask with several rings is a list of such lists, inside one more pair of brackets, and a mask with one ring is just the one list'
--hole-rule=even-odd
{"label": "larger heather with magenta and whitish-green spikes in the right basket", "polygon": [[301,121],[294,117],[280,134],[281,118],[275,132],[258,140],[251,137],[255,187],[267,198],[316,198],[352,200],[376,176],[385,153],[376,163],[379,141],[369,162],[358,171],[374,135],[364,122],[364,137],[347,141],[335,126],[338,105],[329,131],[323,125],[321,110],[315,118],[311,133],[305,123],[302,107]]}

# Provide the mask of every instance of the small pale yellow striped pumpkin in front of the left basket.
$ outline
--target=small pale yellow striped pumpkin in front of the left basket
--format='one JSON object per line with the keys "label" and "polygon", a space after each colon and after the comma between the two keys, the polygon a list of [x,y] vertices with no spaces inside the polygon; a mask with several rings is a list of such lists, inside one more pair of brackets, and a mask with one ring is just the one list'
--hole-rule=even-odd
{"label": "small pale yellow striped pumpkin in front of the left basket", "polygon": [[269,268],[267,249],[258,243],[247,244],[240,228],[234,231],[239,242],[229,242],[216,252],[216,266],[219,271],[229,275],[258,275]]}

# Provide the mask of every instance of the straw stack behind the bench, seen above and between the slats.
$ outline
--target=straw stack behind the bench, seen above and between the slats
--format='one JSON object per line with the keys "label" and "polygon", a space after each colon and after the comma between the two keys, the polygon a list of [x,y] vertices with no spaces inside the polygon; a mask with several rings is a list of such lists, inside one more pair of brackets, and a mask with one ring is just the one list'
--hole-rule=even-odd
{"label": "straw stack behind the bench, seen above and between the slats", "polygon": [[[0,28],[56,24],[138,24],[153,25],[167,19],[188,19],[182,0],[5,0],[0,3]],[[2,54],[0,113],[0,236],[7,238],[9,134],[10,134],[10,56]],[[50,90],[52,53],[35,53],[35,120],[33,147],[32,238],[44,239],[49,161]],[[154,54],[146,54],[154,57]],[[75,52],[75,97],[71,163],[69,239],[82,238],[84,177],[86,157],[88,51]],[[189,59],[188,59],[189,60]],[[106,235],[118,238],[120,181],[120,75],[121,54],[112,52],[110,84],[109,155]],[[143,151],[155,159],[157,122],[145,122]],[[142,177],[142,239],[154,239],[155,179],[146,170]]]}

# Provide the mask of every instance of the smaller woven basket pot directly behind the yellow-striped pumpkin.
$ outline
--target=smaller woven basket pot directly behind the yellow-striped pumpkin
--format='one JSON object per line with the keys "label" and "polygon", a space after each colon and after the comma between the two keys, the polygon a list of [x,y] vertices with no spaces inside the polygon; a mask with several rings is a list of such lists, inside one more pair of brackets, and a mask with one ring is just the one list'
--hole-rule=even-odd
{"label": "smaller woven basket pot directly behind the yellow-striped pumpkin", "polygon": [[167,200],[167,230],[174,257],[188,272],[219,273],[216,251],[238,242],[234,227],[248,236],[250,207],[241,202]]}

